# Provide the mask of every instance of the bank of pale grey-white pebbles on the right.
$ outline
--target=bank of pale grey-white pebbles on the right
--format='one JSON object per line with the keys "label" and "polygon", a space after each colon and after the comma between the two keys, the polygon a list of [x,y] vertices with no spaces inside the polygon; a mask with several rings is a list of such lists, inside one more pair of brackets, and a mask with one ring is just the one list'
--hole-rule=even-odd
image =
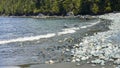
{"label": "bank of pale grey-white pebbles on the right", "polygon": [[[74,55],[72,61],[84,60],[100,65],[112,62],[120,65],[120,13],[110,13],[98,17],[112,20],[110,30],[84,37],[82,42],[76,44],[71,50]],[[120,68],[120,66],[116,68]]]}

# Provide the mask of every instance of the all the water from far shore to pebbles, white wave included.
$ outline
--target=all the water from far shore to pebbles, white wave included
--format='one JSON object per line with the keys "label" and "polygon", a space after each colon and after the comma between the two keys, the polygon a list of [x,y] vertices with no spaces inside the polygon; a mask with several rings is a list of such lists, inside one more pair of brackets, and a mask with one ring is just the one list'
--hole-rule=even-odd
{"label": "all the water from far shore to pebbles, white wave included", "polygon": [[41,64],[50,59],[66,62],[70,55],[62,53],[65,48],[87,34],[108,30],[107,25],[98,28],[103,25],[99,19],[0,17],[0,66]]}

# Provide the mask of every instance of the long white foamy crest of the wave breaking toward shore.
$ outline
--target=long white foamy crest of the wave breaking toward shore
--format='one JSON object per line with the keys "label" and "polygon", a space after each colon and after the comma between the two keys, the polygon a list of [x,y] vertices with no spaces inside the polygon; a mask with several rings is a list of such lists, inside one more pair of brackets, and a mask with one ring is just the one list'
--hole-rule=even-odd
{"label": "long white foamy crest of the wave breaking toward shore", "polygon": [[100,21],[92,23],[90,25],[82,26],[82,27],[66,28],[66,29],[63,29],[62,32],[58,32],[58,33],[49,33],[49,34],[45,34],[45,35],[38,35],[38,36],[31,36],[31,37],[21,37],[21,38],[10,39],[10,40],[0,40],[0,44],[8,44],[8,43],[14,43],[14,42],[25,42],[25,41],[35,41],[35,40],[40,40],[40,39],[45,39],[45,38],[51,38],[54,36],[72,34],[72,33],[75,33],[77,30],[80,30],[82,28],[92,27],[99,22]]}

